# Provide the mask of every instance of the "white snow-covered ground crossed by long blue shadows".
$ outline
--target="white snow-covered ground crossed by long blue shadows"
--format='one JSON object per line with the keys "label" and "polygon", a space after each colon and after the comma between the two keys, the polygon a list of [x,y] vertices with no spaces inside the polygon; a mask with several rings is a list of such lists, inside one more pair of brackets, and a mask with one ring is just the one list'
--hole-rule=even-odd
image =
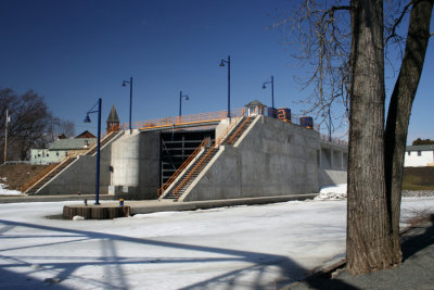
{"label": "white snow-covered ground crossed by long blue shadows", "polygon": [[46,218],[71,203],[0,204],[1,289],[275,289],[344,257],[344,200]]}

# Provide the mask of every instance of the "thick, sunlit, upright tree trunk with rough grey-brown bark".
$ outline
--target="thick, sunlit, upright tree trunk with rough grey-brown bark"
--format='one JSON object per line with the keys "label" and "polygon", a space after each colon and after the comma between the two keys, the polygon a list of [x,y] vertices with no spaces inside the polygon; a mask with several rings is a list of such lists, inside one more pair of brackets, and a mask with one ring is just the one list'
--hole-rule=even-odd
{"label": "thick, sunlit, upright tree trunk with rough grey-brown bark", "polygon": [[384,179],[383,1],[352,1],[346,255],[353,274],[395,264]]}

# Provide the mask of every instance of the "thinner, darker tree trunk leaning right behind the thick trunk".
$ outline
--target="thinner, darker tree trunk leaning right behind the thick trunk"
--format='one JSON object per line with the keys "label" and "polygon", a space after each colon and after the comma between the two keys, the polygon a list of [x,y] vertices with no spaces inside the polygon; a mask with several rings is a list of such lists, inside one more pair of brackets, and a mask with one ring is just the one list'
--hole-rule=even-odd
{"label": "thinner, darker tree trunk leaning right behind the thick trunk", "polygon": [[400,261],[399,215],[403,190],[404,154],[411,106],[422,74],[430,38],[433,0],[420,0],[411,9],[406,50],[395,84],[385,129],[385,177],[388,214],[392,220],[395,260]]}

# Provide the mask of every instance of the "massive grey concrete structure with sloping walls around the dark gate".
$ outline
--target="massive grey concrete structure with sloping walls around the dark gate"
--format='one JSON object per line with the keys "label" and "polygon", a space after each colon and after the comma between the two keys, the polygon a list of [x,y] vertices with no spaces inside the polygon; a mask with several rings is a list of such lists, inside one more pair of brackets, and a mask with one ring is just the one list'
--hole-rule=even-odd
{"label": "massive grey concrete structure with sloping walls around the dark gate", "polygon": [[[188,157],[184,151],[192,152],[202,139],[225,140],[238,130],[233,142],[222,141],[213,149],[213,155],[192,182],[187,184],[179,201],[306,194],[318,192],[321,186],[346,182],[345,146],[321,140],[316,130],[264,116],[264,110],[248,109],[251,118],[221,119],[213,133],[209,129],[203,129],[202,134],[176,130],[174,126],[169,130],[150,128],[117,134],[101,149],[100,193],[108,192],[128,200],[156,199],[164,180],[162,168],[170,154],[180,159],[170,163],[179,167]],[[246,125],[240,127],[240,124]],[[182,137],[179,138],[181,148],[168,148],[170,142],[178,142],[174,139],[177,134]],[[189,139],[189,134],[194,134],[194,138]],[[188,148],[187,139],[194,146]],[[204,146],[174,182],[184,178],[193,162],[199,162],[206,150]],[[78,191],[91,194],[94,192],[94,155],[79,156],[37,194]]]}

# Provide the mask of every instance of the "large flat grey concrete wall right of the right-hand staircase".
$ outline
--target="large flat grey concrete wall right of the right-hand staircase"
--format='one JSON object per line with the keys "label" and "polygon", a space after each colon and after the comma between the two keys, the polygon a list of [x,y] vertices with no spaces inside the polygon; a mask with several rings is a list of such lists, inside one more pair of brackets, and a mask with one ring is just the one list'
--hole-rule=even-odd
{"label": "large flat grey concrete wall right of the right-hand staircase", "polygon": [[318,148],[315,130],[256,117],[234,147],[220,148],[180,201],[317,192]]}

